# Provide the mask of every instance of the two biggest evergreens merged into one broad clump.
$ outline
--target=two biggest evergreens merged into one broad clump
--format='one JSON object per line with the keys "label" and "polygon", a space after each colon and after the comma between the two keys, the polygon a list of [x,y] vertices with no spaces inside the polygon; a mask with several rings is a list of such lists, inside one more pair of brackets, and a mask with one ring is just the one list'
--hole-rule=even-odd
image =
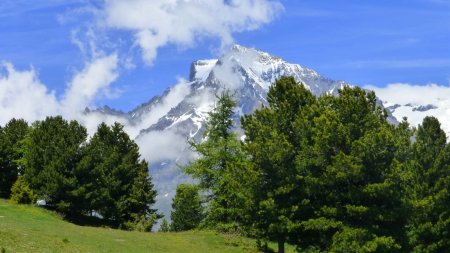
{"label": "two biggest evergreens merged into one broad clump", "polygon": [[407,249],[407,124],[389,125],[375,94],[360,88],[315,99],[281,78],[268,101],[242,120],[258,174],[253,224],[260,236],[305,251]]}

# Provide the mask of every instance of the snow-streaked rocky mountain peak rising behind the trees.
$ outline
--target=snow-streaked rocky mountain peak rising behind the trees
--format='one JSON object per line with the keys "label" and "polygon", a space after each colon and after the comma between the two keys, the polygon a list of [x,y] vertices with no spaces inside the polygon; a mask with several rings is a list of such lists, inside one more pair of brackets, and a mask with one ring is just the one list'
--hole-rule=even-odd
{"label": "snow-streaked rocky mountain peak rising behind the trees", "polygon": [[336,94],[349,85],[268,53],[234,45],[219,59],[193,62],[189,80],[128,113],[107,107],[96,113],[120,117],[125,129],[134,133],[143,157],[150,162],[159,193],[157,208],[168,214],[176,185],[189,181],[179,167],[195,158],[186,141],[201,140],[215,93],[223,88],[231,90],[238,102],[235,123],[239,131],[240,116],[266,104],[269,86],[283,75],[293,76],[318,96]]}

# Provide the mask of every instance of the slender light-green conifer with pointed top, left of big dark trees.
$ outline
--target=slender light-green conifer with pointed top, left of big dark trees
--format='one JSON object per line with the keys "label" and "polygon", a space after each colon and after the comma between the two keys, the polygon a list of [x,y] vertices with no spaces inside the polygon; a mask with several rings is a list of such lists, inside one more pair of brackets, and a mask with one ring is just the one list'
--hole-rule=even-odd
{"label": "slender light-green conifer with pointed top, left of big dark trees", "polygon": [[207,195],[206,224],[233,228],[242,224],[249,205],[248,186],[252,182],[237,136],[232,133],[235,102],[228,91],[217,96],[217,104],[209,113],[204,141],[190,142],[199,158],[184,168],[199,180]]}

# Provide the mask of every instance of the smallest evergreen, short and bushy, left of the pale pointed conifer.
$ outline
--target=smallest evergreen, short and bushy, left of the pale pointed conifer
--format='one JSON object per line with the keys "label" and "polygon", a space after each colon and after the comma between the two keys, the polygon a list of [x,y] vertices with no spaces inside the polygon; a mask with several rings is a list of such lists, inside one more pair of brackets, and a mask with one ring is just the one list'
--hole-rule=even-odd
{"label": "smallest evergreen, short and bushy, left of the pale pointed conifer", "polygon": [[175,197],[172,200],[171,230],[178,232],[198,227],[203,218],[202,211],[198,187],[189,184],[178,185]]}

